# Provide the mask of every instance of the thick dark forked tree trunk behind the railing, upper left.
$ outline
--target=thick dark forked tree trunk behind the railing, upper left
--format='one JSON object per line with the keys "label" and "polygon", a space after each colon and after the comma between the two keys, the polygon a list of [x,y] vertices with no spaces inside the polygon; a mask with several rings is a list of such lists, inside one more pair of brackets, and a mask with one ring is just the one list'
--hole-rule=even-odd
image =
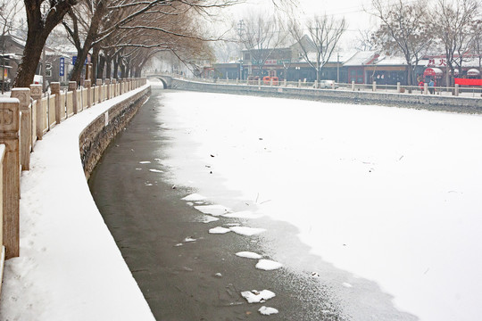
{"label": "thick dark forked tree trunk behind the railing, upper left", "polygon": [[42,49],[52,30],[79,0],[24,0],[27,12],[27,41],[13,86],[28,87],[34,78]]}

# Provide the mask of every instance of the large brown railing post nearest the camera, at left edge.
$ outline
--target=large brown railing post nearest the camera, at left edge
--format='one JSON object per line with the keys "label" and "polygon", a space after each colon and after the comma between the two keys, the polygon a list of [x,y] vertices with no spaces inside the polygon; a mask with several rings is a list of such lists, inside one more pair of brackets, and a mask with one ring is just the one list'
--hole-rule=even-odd
{"label": "large brown railing post nearest the camera, at left edge", "polygon": [[3,166],[3,236],[5,258],[20,254],[20,109],[17,98],[0,101],[0,144],[5,145]]}

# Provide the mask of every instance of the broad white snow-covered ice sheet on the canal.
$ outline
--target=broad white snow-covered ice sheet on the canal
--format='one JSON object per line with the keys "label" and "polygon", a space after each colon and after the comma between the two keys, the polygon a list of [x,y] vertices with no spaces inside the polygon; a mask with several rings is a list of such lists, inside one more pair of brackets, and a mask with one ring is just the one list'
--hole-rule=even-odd
{"label": "broad white snow-covered ice sheet on the canal", "polygon": [[201,93],[160,103],[163,165],[196,190],[191,201],[212,203],[196,207],[215,217],[211,233],[248,227],[222,226],[237,213],[286,221],[313,254],[422,321],[482,315],[480,116]]}

